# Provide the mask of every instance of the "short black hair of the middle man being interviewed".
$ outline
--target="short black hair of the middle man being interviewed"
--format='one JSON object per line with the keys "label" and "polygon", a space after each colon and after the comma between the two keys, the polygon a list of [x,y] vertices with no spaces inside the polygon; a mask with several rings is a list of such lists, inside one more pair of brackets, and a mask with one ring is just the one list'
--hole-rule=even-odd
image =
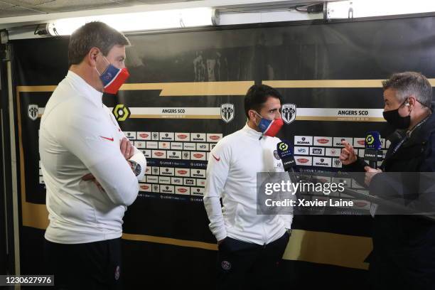
{"label": "short black hair of the middle man being interviewed", "polygon": [[249,118],[249,109],[254,109],[259,113],[269,97],[276,97],[276,99],[279,99],[279,102],[282,103],[281,94],[273,87],[269,87],[268,85],[252,85],[252,87],[249,87],[245,96],[246,117]]}

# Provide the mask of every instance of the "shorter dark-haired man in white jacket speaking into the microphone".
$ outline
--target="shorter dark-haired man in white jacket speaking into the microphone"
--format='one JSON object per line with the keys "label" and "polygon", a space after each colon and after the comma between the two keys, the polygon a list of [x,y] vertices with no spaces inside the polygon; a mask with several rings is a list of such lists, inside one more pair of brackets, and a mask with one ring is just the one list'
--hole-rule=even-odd
{"label": "shorter dark-haired man in white jacket speaking into the microphone", "polygon": [[291,231],[292,215],[257,215],[257,172],[284,171],[274,156],[281,95],[253,85],[245,114],[245,127],[219,141],[208,160],[204,205],[218,240],[218,289],[244,289],[248,281],[269,288]]}

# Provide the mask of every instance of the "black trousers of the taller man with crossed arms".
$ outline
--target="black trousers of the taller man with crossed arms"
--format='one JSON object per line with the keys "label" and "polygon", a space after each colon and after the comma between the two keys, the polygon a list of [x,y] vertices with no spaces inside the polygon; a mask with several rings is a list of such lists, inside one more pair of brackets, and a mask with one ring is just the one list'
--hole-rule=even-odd
{"label": "black trousers of the taller man with crossed arms", "polygon": [[122,289],[121,238],[85,244],[45,240],[45,273],[54,274],[50,289]]}

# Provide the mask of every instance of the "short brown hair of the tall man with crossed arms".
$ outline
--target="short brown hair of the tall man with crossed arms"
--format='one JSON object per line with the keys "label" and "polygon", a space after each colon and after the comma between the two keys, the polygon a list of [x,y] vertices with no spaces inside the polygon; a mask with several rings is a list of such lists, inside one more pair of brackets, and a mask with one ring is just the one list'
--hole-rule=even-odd
{"label": "short brown hair of the tall man with crossed arms", "polygon": [[100,21],[92,21],[71,34],[68,45],[68,66],[77,65],[91,48],[99,48],[107,55],[114,45],[130,45],[124,34]]}

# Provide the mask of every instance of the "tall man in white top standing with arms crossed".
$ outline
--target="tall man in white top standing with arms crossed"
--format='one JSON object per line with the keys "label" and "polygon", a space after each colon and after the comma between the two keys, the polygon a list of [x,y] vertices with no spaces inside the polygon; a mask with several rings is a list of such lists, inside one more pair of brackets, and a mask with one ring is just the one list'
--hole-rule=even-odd
{"label": "tall man in white top standing with arms crossed", "polygon": [[70,38],[68,75],[45,106],[39,153],[50,224],[47,274],[57,289],[121,286],[122,218],[136,199],[146,159],[131,146],[103,92],[116,93],[128,72],[127,38],[101,22]]}

